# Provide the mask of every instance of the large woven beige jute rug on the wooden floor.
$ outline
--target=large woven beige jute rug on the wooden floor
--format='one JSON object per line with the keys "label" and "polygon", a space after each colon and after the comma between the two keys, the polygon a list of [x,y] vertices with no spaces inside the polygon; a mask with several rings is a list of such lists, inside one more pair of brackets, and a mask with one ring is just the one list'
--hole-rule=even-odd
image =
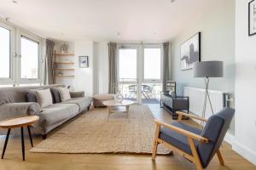
{"label": "large woven beige jute rug on the wooden floor", "polygon": [[[94,109],[67,123],[44,139],[32,152],[44,153],[130,153],[151,154],[154,142],[154,116],[145,105],[131,105],[125,113],[108,117],[107,109]],[[159,145],[158,154],[170,150]]]}

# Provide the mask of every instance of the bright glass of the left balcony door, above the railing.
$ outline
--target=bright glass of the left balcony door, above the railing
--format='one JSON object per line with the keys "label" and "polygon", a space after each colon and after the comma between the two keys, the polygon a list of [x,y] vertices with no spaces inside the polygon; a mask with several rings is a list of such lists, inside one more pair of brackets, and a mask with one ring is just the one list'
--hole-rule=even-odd
{"label": "bright glass of the left balcony door, above the railing", "polygon": [[137,79],[137,49],[119,49],[119,79]]}

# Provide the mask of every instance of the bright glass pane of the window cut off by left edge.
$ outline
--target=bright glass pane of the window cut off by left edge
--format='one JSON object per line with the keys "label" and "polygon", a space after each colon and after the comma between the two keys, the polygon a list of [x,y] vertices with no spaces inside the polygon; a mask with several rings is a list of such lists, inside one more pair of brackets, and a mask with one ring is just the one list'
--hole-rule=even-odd
{"label": "bright glass pane of the window cut off by left edge", "polygon": [[0,26],[0,78],[10,78],[10,31]]}

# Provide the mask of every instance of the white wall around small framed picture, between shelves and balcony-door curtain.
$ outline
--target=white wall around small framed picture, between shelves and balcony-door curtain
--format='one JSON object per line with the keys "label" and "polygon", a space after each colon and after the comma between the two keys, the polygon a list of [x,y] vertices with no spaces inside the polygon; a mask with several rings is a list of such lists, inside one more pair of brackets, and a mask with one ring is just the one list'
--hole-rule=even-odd
{"label": "white wall around small framed picture, between shelves and balcony-door curtain", "polygon": [[[62,42],[55,42],[60,53]],[[74,54],[75,77],[61,77],[56,83],[72,85],[76,91],[86,95],[108,94],[108,42],[69,42],[69,53]],[[89,68],[79,68],[79,56],[89,56]]]}

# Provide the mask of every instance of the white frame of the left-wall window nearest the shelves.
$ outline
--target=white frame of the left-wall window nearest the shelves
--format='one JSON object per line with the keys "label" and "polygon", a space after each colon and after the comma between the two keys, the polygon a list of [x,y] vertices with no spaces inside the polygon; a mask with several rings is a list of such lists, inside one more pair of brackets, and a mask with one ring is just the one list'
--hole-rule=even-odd
{"label": "white frame of the left-wall window nearest the shelves", "polygon": [[[27,39],[33,41],[33,42],[38,42],[38,78],[21,78],[21,37],[26,37]],[[43,74],[43,41],[41,37],[38,37],[36,35],[33,35],[32,33],[29,33],[24,30],[18,29],[17,31],[17,52],[19,54],[18,57],[18,65],[16,68],[16,75],[17,75],[17,82],[19,84],[32,84],[32,83],[41,83],[42,80],[42,74]]]}

